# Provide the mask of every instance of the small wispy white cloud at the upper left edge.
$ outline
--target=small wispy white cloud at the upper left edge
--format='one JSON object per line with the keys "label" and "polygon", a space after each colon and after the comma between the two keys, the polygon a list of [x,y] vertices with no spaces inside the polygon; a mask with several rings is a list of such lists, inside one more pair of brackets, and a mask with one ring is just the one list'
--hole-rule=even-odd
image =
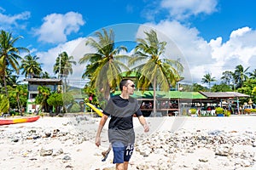
{"label": "small wispy white cloud at the upper left edge", "polygon": [[[2,11],[4,11],[3,8],[0,8]],[[14,15],[7,15],[3,14],[0,11],[0,27],[3,27],[4,29],[12,29],[12,28],[25,28],[26,25],[24,23],[20,23],[20,20],[28,20],[30,18],[30,12],[25,11],[20,14],[14,14]]]}

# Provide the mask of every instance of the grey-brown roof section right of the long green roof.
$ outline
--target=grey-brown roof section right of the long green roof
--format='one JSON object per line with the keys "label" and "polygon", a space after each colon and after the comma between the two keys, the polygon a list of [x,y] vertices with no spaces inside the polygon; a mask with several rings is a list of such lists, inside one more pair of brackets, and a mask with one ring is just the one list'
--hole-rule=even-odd
{"label": "grey-brown roof section right of the long green roof", "polygon": [[242,98],[242,97],[250,97],[247,94],[241,94],[238,92],[200,92],[200,94],[209,98],[214,99],[228,99],[228,98]]}

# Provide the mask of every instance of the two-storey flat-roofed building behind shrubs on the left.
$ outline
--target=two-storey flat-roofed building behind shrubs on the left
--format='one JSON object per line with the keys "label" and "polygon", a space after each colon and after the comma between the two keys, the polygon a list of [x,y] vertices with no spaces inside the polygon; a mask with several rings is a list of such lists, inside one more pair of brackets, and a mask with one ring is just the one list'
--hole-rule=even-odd
{"label": "two-storey flat-roofed building behind shrubs on the left", "polygon": [[24,82],[28,82],[28,99],[26,102],[26,112],[34,113],[38,111],[40,105],[36,104],[36,97],[38,95],[38,87],[45,86],[50,89],[51,92],[57,91],[59,85],[61,85],[61,79],[56,78],[27,78]]}

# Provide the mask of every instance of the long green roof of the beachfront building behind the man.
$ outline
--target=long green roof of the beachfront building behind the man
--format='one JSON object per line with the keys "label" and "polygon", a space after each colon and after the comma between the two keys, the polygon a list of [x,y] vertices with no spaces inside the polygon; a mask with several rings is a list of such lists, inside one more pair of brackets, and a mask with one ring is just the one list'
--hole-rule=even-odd
{"label": "long green roof of the beachfront building behind the man", "polygon": [[[115,91],[113,95],[121,94],[120,91]],[[132,97],[137,99],[153,99],[153,91],[135,91]],[[207,99],[206,96],[198,92],[180,92],[180,91],[157,91],[156,98],[166,98],[166,99]]]}

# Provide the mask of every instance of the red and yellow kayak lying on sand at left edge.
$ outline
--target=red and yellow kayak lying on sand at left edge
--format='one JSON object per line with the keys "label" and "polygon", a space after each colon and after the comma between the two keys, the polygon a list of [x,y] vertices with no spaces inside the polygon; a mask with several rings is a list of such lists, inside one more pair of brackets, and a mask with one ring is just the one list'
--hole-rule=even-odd
{"label": "red and yellow kayak lying on sand at left edge", "polygon": [[28,116],[28,117],[19,117],[19,118],[3,118],[0,119],[0,126],[1,125],[9,125],[15,123],[22,123],[22,122],[35,122],[38,121],[40,116]]}

